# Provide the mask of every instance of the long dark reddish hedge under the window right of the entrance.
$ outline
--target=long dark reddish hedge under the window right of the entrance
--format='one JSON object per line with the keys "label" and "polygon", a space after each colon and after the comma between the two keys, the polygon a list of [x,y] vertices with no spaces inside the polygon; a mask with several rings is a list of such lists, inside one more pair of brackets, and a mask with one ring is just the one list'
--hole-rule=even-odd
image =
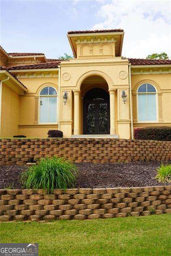
{"label": "long dark reddish hedge under the window right of the entrance", "polygon": [[134,138],[136,140],[171,141],[171,126],[136,128]]}

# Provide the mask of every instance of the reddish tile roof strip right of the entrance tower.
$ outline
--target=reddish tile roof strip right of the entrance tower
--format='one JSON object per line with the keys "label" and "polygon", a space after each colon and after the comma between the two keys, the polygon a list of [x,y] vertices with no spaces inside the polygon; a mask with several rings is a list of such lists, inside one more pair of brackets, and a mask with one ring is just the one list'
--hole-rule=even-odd
{"label": "reddish tile roof strip right of the entrance tower", "polygon": [[131,65],[168,65],[171,60],[128,58]]}

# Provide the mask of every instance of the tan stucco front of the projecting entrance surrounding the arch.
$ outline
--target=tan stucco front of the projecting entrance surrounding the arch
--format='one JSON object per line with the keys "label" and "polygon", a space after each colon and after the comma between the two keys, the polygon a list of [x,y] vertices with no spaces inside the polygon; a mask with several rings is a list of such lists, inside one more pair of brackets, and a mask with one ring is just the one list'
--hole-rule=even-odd
{"label": "tan stucco front of the projecting entrance surrounding the arch", "polygon": [[[126,77],[120,78],[120,72],[124,72]],[[69,79],[64,79],[65,74],[69,74]],[[64,120],[64,125],[61,123],[61,130],[64,129],[65,137],[70,137],[70,131],[73,130],[75,121],[78,122],[79,128],[77,128],[77,133],[83,133],[83,111],[82,111],[82,97],[84,95],[85,87],[89,87],[91,89],[91,84],[84,84],[86,79],[93,76],[99,76],[104,79],[105,89],[107,84],[107,90],[115,90],[115,107],[111,109],[111,116],[115,119],[115,132],[118,132],[117,120],[130,119],[129,116],[129,97],[128,102],[125,105],[122,105],[121,100],[117,96],[117,90],[120,92],[124,89],[126,93],[129,94],[129,80],[128,80],[128,60],[123,60],[121,57],[116,58],[94,58],[94,59],[72,59],[70,61],[65,61],[61,63],[61,95],[63,95],[64,91],[68,92],[68,96],[72,94],[72,91],[78,91],[79,93],[79,104],[74,104],[74,96],[72,96],[72,100],[68,100],[67,104],[64,105],[61,97],[61,120]],[[100,87],[99,83],[93,84],[92,87]],[[120,105],[119,112],[117,105]],[[74,108],[79,108],[79,116],[74,118]],[[72,111],[71,111],[72,110]],[[123,115],[123,111],[125,110],[125,115]],[[67,116],[66,116],[67,113]],[[66,127],[66,123],[68,126]],[[120,124],[119,124],[120,125]],[[122,127],[123,125],[121,125]],[[70,127],[70,128],[69,128]],[[121,128],[122,129],[122,128]],[[130,131],[125,138],[128,138]]]}

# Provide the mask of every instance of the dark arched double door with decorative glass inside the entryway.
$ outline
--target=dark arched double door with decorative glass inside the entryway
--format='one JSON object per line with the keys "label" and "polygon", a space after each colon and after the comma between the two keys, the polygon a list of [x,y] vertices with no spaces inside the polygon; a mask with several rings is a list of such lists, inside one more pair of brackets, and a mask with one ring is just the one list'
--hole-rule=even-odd
{"label": "dark arched double door with decorative glass inside the entryway", "polygon": [[84,134],[110,134],[110,100],[107,91],[93,88],[84,96]]}

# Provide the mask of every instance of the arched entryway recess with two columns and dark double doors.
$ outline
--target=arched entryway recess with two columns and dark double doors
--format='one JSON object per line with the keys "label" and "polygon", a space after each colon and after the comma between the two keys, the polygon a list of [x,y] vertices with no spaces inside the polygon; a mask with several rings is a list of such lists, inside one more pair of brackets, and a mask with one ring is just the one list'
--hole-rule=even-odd
{"label": "arched entryway recess with two columns and dark double doors", "polygon": [[[80,80],[80,79],[79,79]],[[73,90],[73,134],[116,134],[116,89],[110,79],[93,73],[81,79]]]}

